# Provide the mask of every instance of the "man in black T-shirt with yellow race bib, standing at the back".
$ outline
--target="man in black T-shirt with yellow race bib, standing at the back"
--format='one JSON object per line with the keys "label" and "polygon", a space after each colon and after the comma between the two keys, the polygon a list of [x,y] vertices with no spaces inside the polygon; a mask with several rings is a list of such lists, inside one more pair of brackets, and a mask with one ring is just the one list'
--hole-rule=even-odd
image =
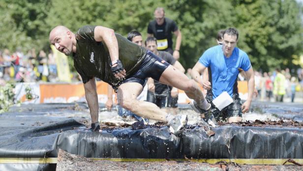
{"label": "man in black T-shirt with yellow race bib, standing at the back", "polygon": [[[180,58],[180,46],[182,34],[176,23],[165,17],[164,9],[157,7],[153,13],[154,20],[149,23],[147,33],[157,39],[158,50],[164,50],[174,56],[176,60]],[[175,50],[173,50],[172,32],[177,36]]]}

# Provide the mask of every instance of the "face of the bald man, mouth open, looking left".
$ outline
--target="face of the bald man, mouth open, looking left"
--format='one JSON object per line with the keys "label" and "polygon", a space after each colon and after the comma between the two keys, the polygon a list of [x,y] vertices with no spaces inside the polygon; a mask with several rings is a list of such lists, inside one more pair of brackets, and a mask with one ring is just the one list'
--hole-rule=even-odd
{"label": "face of the bald man, mouth open, looking left", "polygon": [[56,47],[56,49],[66,56],[69,56],[72,52],[72,40],[70,32],[54,33],[50,35],[50,42]]}

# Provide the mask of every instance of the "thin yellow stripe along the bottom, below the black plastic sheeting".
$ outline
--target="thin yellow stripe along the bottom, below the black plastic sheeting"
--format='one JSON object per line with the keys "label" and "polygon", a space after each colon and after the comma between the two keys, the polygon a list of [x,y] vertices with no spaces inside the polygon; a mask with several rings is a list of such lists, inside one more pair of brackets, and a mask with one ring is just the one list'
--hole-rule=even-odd
{"label": "thin yellow stripe along the bottom, below the black plastic sheeting", "polygon": [[[283,165],[288,159],[121,159],[121,158],[91,158],[94,161],[113,162],[166,162],[166,161],[191,161],[215,164],[218,162],[234,162],[240,165]],[[297,163],[303,163],[303,159],[293,159]],[[56,164],[57,158],[0,158],[0,164],[7,163],[31,163],[31,164]],[[294,165],[286,162],[285,165]]]}

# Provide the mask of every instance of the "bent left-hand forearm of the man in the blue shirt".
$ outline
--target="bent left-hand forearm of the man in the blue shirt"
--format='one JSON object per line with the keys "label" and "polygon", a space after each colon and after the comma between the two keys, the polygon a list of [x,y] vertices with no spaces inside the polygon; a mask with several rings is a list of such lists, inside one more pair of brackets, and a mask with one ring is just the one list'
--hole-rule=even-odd
{"label": "bent left-hand forearm of the man in the blue shirt", "polygon": [[191,69],[191,77],[199,84],[202,85],[202,87],[206,90],[211,89],[211,82],[208,80],[205,81],[201,78],[201,73],[205,72],[206,67],[203,66],[200,62],[197,62],[194,68]]}

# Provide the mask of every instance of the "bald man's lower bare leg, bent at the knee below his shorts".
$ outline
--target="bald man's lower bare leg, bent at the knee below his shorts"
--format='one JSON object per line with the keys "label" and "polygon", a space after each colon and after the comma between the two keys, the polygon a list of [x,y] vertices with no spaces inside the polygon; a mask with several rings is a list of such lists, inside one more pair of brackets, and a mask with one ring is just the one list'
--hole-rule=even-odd
{"label": "bald man's lower bare leg, bent at the knee below his shorts", "polygon": [[142,92],[142,85],[136,82],[121,84],[118,89],[118,103],[127,110],[132,111],[138,116],[167,122],[167,113],[157,105],[150,102],[138,101],[137,97]]}

